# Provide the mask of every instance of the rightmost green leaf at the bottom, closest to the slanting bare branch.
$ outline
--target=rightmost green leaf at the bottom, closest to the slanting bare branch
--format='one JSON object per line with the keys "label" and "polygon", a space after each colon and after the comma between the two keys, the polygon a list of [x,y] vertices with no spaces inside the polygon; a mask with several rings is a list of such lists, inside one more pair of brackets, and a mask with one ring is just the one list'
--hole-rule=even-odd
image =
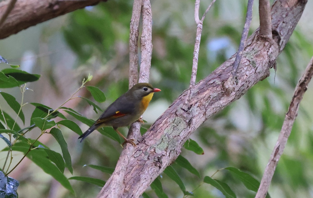
{"label": "rightmost green leaf at the bottom, closest to the slanting bare branch", "polygon": [[[235,176],[246,186],[247,189],[257,192],[260,186],[260,182],[256,180],[252,175],[249,173],[246,173],[244,171],[240,171],[237,168],[234,167],[227,167],[225,170],[231,171],[235,174]],[[270,197],[267,193],[266,197]]]}

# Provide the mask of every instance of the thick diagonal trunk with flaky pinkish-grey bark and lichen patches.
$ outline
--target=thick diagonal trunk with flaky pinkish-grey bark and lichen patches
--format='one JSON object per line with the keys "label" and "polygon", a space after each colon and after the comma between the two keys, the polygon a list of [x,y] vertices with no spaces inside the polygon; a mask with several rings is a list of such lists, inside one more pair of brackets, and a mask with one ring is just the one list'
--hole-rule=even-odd
{"label": "thick diagonal trunk with flaky pinkish-grey bark and lichen patches", "polygon": [[[113,179],[104,186],[106,193],[98,197],[139,197],[151,182],[181,152],[190,135],[214,113],[239,99],[258,81],[269,76],[269,69],[284,49],[304,10],[306,0],[278,0],[272,6],[273,41],[259,36],[259,29],[248,39],[238,67],[238,82],[224,86],[231,76],[235,55],[194,87],[187,111],[182,108],[187,91],[156,120],[143,136],[143,140],[128,153],[129,160],[119,163]],[[122,157],[122,156],[121,156]],[[122,173],[121,173],[122,171]],[[117,175],[124,175],[122,182],[114,182]],[[118,185],[118,187],[116,186]],[[118,190],[117,190],[118,189]]]}

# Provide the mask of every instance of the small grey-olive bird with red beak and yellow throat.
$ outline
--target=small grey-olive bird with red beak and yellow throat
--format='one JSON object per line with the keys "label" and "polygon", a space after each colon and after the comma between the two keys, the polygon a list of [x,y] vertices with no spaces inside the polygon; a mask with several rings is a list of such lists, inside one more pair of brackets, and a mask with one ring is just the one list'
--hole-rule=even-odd
{"label": "small grey-olive bird with red beak and yellow throat", "polygon": [[125,142],[136,146],[134,139],[125,138],[118,130],[119,127],[126,127],[135,121],[143,123],[139,119],[142,113],[147,109],[154,92],[161,91],[153,88],[149,83],[138,83],[129,89],[125,94],[116,99],[110,106],[105,109],[100,118],[78,139],[82,142],[91,132],[97,128],[104,126],[111,126],[118,133]]}

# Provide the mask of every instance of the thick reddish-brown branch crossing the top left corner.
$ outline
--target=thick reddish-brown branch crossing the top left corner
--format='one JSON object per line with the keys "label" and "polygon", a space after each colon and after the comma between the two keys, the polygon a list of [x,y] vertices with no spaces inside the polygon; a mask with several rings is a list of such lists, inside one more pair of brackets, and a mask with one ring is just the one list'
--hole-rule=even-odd
{"label": "thick reddish-brown branch crossing the top left corner", "polygon": [[[107,0],[18,0],[1,26],[0,39],[16,34],[38,23]],[[0,2],[0,13],[4,13],[8,1]]]}

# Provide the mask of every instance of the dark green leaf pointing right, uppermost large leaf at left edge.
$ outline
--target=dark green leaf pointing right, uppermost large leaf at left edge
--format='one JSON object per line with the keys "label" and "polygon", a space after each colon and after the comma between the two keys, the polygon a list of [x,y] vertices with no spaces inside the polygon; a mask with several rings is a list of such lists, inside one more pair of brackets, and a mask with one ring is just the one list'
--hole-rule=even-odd
{"label": "dark green leaf pointing right, uppermost large leaf at left edge", "polygon": [[[39,74],[29,74],[26,71],[22,70],[17,70],[17,69],[12,69],[12,68],[7,68],[2,70],[2,72],[6,76],[12,76],[18,81],[18,85],[22,85],[27,82],[33,82],[39,79],[40,75]],[[0,88],[9,88],[9,87],[1,87]]]}

